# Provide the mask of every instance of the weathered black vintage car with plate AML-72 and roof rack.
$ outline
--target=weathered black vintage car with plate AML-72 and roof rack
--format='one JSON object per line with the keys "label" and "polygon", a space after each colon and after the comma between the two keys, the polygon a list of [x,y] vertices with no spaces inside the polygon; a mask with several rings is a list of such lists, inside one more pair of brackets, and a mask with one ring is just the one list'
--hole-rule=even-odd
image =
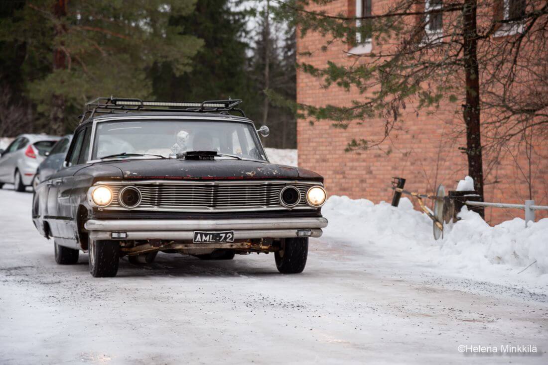
{"label": "weathered black vintage car with plate AML-72 and roof rack", "polygon": [[[87,104],[64,167],[36,187],[32,217],[55,260],[89,252],[95,277],[159,251],[201,259],[273,252],[300,273],[327,219],[323,177],[271,164],[240,100]],[[239,113],[240,115],[233,115]]]}

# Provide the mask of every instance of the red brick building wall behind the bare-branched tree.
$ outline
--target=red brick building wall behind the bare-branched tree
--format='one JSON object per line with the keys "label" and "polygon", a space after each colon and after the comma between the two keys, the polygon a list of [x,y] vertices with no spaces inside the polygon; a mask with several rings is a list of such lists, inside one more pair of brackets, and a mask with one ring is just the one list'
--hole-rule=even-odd
{"label": "red brick building wall behind the bare-branched tree", "polygon": [[[509,2],[510,0],[504,0]],[[427,1],[435,7],[438,1]],[[505,4],[506,4],[505,3]],[[386,0],[338,0],[310,10],[325,10],[328,14],[349,16],[380,14]],[[436,22],[431,22],[436,26]],[[435,30],[426,30],[435,31]],[[322,68],[327,61],[335,63],[356,62],[348,54],[362,54],[382,47],[370,39],[360,39],[361,44],[350,49],[349,45],[333,43],[327,51],[320,48],[326,39],[317,33],[298,37],[298,62],[310,63]],[[358,62],[360,62],[358,60]],[[336,86],[322,88],[322,80],[298,71],[297,101],[307,105],[349,106],[351,100],[359,99],[357,92],[346,92]],[[345,147],[352,138],[380,140],[384,135],[384,122],[380,119],[364,120],[362,125],[351,123],[344,130],[334,128],[329,121],[299,119],[297,138],[299,166],[317,171],[326,177],[326,188],[330,195],[348,195],[351,198],[366,198],[374,202],[390,201],[391,177],[407,179],[406,188],[419,192],[433,192],[439,183],[453,190],[459,179],[467,175],[467,160],[459,147],[466,146],[464,136],[455,138],[455,130],[462,128],[462,114],[455,103],[447,102],[435,114],[426,110],[404,115],[402,128],[393,131],[390,139],[367,152],[347,153]],[[406,110],[412,111],[409,106]],[[535,142],[532,158],[533,198],[536,204],[548,204],[548,141],[539,138]],[[516,160],[518,164],[516,164]],[[524,154],[518,150],[506,153],[497,163],[484,160],[484,194],[486,201],[502,201],[523,204],[529,197],[527,165]],[[537,212],[537,218],[543,217]],[[486,219],[498,223],[503,219],[522,217],[523,211],[490,209]]]}

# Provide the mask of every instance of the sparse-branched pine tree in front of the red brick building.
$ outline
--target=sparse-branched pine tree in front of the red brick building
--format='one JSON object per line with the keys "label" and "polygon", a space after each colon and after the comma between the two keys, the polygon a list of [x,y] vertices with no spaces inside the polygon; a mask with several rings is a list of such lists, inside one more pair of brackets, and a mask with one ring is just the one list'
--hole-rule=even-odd
{"label": "sparse-branched pine tree in front of the red brick building", "polygon": [[279,18],[298,25],[301,35],[321,34],[322,51],[334,43],[351,49],[358,34],[368,34],[376,44],[371,53],[350,53],[351,62],[298,65],[323,86],[360,95],[345,107],[300,105],[302,114],[340,128],[369,118],[385,121],[383,140],[356,138],[348,151],[382,143],[401,127],[406,106],[435,112],[441,101],[449,101],[462,116],[469,175],[483,195],[482,135],[496,143],[548,124],[548,99],[541,91],[548,85],[545,1],[393,0],[362,16],[322,9],[332,0],[272,1]]}

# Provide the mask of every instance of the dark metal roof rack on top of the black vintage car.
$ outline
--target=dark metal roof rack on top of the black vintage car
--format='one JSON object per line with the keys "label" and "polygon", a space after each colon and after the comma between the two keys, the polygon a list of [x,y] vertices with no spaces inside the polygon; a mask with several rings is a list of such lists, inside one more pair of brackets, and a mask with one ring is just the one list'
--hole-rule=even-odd
{"label": "dark metal roof rack on top of the black vintage car", "polygon": [[127,97],[98,97],[85,103],[84,113],[80,123],[93,118],[95,114],[128,113],[128,112],[193,112],[193,113],[221,113],[238,112],[243,117],[246,114],[238,105],[240,99],[206,100],[202,102],[180,101],[147,101]]}

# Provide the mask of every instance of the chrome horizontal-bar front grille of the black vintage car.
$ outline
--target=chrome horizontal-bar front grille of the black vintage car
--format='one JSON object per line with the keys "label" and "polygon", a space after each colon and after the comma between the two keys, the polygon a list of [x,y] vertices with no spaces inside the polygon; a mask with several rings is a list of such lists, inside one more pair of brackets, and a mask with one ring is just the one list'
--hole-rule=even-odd
{"label": "chrome horizontal-bar front grille of the black vintage car", "polygon": [[[101,183],[98,183],[101,184]],[[155,211],[246,211],[286,209],[280,204],[279,193],[291,185],[299,189],[301,198],[293,209],[313,209],[306,204],[306,192],[316,182],[173,182],[139,181],[105,183],[113,193],[112,203],[105,209],[124,209],[119,203],[119,191],[134,186],[141,193],[141,203],[133,210]]]}

